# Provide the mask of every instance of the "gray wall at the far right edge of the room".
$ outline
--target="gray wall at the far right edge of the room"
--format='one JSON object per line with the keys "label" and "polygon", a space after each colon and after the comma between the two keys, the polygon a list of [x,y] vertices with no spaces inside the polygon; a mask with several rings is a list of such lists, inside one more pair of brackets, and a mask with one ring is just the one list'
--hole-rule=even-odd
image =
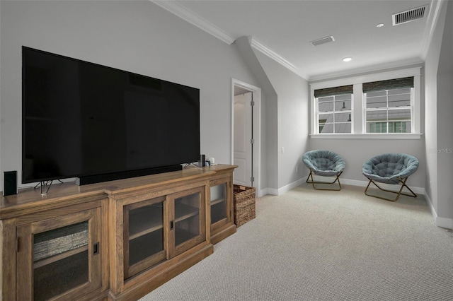
{"label": "gray wall at the far right edge of the room", "polygon": [[453,228],[453,4],[444,1],[425,59],[426,194],[436,224]]}

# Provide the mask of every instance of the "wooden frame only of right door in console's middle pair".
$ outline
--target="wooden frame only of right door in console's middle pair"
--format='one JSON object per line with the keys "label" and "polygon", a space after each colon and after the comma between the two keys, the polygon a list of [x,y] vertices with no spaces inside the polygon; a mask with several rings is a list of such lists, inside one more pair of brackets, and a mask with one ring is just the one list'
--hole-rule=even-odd
{"label": "wooden frame only of right door in console's middle pair", "polygon": [[[191,194],[200,194],[198,199],[198,235],[186,240],[181,244],[176,245],[176,199],[179,199],[184,196],[190,196]],[[199,187],[194,187],[191,189],[186,189],[183,191],[178,191],[168,196],[168,252],[169,257],[172,258],[178,254],[181,254],[188,249],[195,247],[197,244],[204,242],[206,240],[206,186],[202,185]],[[172,227],[173,226],[173,227]]]}

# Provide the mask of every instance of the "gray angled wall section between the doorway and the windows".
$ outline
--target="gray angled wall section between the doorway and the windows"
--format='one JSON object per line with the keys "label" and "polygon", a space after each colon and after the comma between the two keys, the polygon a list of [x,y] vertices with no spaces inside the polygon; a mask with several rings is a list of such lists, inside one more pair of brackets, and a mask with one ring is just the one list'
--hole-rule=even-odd
{"label": "gray angled wall section between the doorway and the windows", "polygon": [[261,161],[266,167],[267,185],[261,186],[264,189],[260,194],[280,194],[301,179],[302,155],[309,134],[309,85],[304,78],[251,47],[250,37],[239,37],[234,44],[265,95],[262,110],[265,155]]}

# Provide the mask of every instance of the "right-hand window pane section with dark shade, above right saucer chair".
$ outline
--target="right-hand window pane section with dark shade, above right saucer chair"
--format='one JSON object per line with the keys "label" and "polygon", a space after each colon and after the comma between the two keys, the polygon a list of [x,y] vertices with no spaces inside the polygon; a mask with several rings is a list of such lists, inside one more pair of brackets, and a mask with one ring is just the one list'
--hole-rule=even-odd
{"label": "right-hand window pane section with dark shade, above right saucer chair", "polygon": [[413,77],[364,83],[365,132],[411,133]]}

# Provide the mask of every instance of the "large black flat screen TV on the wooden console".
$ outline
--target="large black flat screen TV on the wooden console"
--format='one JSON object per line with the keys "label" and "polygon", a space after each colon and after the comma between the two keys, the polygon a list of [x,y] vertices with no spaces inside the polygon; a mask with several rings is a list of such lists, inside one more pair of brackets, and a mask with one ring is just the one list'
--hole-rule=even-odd
{"label": "large black flat screen TV on the wooden console", "polygon": [[199,160],[199,89],[29,47],[22,59],[23,183],[89,184]]}

